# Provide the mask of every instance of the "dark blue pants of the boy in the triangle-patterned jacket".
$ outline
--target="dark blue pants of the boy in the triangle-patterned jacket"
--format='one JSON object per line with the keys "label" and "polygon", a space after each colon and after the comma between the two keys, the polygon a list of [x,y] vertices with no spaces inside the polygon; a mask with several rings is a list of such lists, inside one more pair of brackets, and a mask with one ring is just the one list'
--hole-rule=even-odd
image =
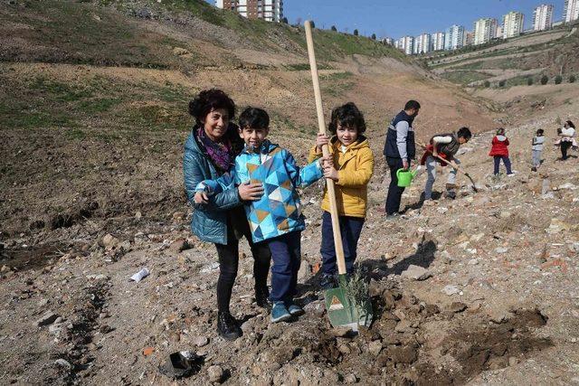
{"label": "dark blue pants of the boy in the triangle-patterned jacket", "polygon": [[296,296],[301,263],[301,232],[293,231],[265,242],[271,250],[272,302],[289,301]]}

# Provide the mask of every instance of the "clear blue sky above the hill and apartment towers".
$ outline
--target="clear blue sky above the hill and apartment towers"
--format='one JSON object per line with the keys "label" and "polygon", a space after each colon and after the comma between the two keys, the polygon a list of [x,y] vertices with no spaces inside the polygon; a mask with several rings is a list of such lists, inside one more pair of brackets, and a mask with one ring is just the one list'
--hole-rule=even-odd
{"label": "clear blue sky above the hill and apartment towers", "polygon": [[[525,29],[532,28],[536,6],[543,3],[555,5],[555,21],[563,18],[565,0],[285,0],[284,15],[290,24],[312,19],[320,28],[332,25],[338,31],[394,39],[422,33],[446,31],[451,25],[463,25],[471,31],[480,18],[496,18],[499,23],[511,11],[526,15]],[[412,6],[409,6],[412,4]]]}

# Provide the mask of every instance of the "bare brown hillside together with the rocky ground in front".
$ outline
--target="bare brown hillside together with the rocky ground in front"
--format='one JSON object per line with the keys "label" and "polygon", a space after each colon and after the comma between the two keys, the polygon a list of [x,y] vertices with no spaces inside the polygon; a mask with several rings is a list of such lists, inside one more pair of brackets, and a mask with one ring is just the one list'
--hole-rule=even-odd
{"label": "bare brown hillside together with the rocky ground in front", "polygon": [[[548,146],[541,173],[527,172],[536,128],[546,127],[551,143],[548,127],[577,120],[565,104],[548,99],[540,119],[521,106],[517,117],[511,99],[478,96],[502,90],[465,90],[391,47],[316,30],[327,115],[356,102],[375,154],[358,250],[375,321],[356,336],[327,322],[317,273],[320,182],[302,197],[299,303],[307,314],[269,323],[254,303],[242,241],[232,311],[243,336],[229,343],[215,331],[214,245],[190,231],[187,106],[217,87],[238,108],[266,108],[272,141],[305,163],[317,119],[303,29],[201,0],[11,0],[0,2],[0,33],[2,383],[577,380],[577,158],[558,163]],[[422,207],[421,174],[403,195],[402,218],[386,221],[384,132],[407,99],[422,103],[414,125],[422,141],[465,125],[477,133],[460,157],[479,193],[459,177],[457,200]],[[497,122],[508,123],[514,178],[489,175]],[[435,190],[443,185],[439,177]],[[429,278],[402,275],[411,265]],[[150,276],[128,280],[144,267]],[[195,374],[162,375],[167,355],[184,350],[200,358]]]}

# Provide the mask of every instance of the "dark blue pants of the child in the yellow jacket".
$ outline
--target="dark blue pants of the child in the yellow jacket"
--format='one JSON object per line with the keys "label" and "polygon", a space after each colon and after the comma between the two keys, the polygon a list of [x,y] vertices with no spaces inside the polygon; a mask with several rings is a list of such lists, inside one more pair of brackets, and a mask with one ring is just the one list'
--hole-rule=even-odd
{"label": "dark blue pants of the child in the yellow jacket", "polygon": [[[354,270],[356,250],[360,233],[364,227],[364,219],[361,217],[339,216],[340,233],[344,244],[344,259],[346,260],[347,273]],[[332,232],[332,217],[329,212],[322,214],[322,273],[325,275],[337,274],[336,249],[334,248],[334,233]]]}

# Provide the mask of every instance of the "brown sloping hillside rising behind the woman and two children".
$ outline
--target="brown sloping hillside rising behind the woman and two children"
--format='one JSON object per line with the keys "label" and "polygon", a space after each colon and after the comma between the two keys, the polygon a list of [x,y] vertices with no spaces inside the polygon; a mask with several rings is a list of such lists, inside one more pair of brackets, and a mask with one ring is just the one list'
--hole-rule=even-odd
{"label": "brown sloping hillside rising behind the woman and two children", "polygon": [[[183,204],[187,103],[201,89],[223,88],[240,108],[267,108],[274,140],[297,155],[315,137],[301,28],[248,21],[201,0],[17,1],[0,5],[0,20],[8,139],[0,157],[4,186],[12,186],[2,192],[5,232],[81,220],[94,202],[90,215],[100,217],[164,215]],[[387,121],[411,98],[424,106],[424,137],[439,126],[492,126],[474,99],[400,52],[364,37],[315,35],[326,109],[360,105],[377,152]]]}

